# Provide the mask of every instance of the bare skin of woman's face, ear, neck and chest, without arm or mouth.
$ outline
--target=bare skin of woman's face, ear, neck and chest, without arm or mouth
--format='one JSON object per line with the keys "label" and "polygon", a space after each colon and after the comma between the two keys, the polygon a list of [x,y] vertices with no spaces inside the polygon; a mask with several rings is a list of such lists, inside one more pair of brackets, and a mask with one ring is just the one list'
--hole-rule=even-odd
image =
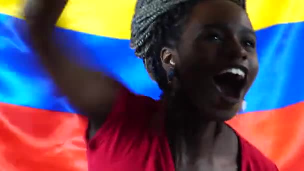
{"label": "bare skin of woman's face, ear, neck and chest, without arm or mouth", "polygon": [[[185,111],[183,125],[192,125],[179,128],[190,130],[182,131],[185,133],[175,140],[180,170],[236,170],[238,139],[223,121],[236,114],[256,77],[255,41],[251,22],[241,7],[228,0],[206,0],[193,8],[177,47],[163,48],[164,68],[178,68],[178,83],[191,101],[188,106],[180,105],[186,101],[176,105],[180,107],[177,111]],[[245,66],[248,75],[238,102],[231,104],[222,98],[212,79],[235,64]],[[186,111],[192,108],[197,112],[189,117]]]}

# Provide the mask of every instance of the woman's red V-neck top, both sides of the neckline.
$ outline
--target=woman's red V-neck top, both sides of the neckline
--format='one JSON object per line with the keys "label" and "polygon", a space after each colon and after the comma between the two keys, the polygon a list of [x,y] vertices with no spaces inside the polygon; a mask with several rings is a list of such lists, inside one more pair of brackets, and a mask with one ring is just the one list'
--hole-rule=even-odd
{"label": "woman's red V-neck top, both sides of the neckline", "polygon": [[[103,126],[88,142],[89,171],[174,171],[159,103],[126,89]],[[239,135],[238,135],[239,136]],[[239,136],[242,171],[277,171],[277,167]]]}

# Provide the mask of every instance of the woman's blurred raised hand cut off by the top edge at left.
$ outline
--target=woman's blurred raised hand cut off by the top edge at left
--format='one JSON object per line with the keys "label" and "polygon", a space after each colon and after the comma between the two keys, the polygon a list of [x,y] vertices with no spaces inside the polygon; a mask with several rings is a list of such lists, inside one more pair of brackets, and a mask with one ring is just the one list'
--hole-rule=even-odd
{"label": "woman's blurred raised hand cut off by the top edge at left", "polygon": [[27,0],[25,19],[32,33],[47,33],[54,28],[68,0]]}

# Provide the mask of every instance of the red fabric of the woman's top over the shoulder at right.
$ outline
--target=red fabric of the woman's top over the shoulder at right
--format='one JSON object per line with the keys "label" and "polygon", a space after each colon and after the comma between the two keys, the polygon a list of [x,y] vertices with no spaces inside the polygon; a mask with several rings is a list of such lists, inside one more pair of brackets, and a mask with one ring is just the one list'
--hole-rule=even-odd
{"label": "red fabric of the woman's top over the shoulder at right", "polygon": [[255,146],[244,139],[242,136],[237,134],[239,137],[239,143],[241,147],[241,161],[242,170],[267,170],[267,171],[277,171],[278,168],[269,158],[267,158],[263,153],[261,153]]}

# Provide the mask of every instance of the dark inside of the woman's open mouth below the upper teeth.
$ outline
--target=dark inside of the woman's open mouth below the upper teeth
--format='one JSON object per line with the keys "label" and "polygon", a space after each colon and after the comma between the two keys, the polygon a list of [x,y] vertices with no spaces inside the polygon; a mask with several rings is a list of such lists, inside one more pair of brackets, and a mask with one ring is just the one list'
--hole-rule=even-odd
{"label": "dark inside of the woman's open mouth below the upper teeth", "polygon": [[238,75],[225,73],[214,77],[216,85],[221,92],[229,97],[240,98],[241,77]]}

